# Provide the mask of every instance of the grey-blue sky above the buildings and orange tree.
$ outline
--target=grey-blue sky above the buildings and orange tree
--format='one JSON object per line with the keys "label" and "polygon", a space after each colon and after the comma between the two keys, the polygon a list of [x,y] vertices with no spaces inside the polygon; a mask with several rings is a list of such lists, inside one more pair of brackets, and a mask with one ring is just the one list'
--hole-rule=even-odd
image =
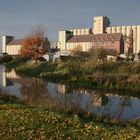
{"label": "grey-blue sky above the buildings and orange tree", "polygon": [[0,0],[0,36],[24,38],[41,25],[56,41],[59,30],[91,28],[94,16],[108,16],[111,26],[138,25],[140,0]]}

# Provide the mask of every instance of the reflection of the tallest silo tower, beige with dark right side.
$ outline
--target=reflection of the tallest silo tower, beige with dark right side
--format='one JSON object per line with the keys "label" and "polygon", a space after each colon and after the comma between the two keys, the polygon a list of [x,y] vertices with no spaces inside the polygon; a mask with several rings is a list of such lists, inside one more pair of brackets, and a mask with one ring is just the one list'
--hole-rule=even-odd
{"label": "reflection of the tallest silo tower, beige with dark right side", "polygon": [[108,103],[108,97],[94,92],[91,94],[91,103],[95,106],[104,106]]}

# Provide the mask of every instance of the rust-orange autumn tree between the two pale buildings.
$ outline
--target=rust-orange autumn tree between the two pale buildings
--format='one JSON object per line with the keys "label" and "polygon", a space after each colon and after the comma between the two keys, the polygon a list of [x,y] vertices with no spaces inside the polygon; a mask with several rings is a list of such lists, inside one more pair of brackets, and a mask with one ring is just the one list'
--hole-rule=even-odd
{"label": "rust-orange autumn tree between the two pale buildings", "polygon": [[21,57],[30,57],[32,60],[37,60],[47,51],[49,51],[50,43],[47,37],[44,37],[44,29],[38,27],[23,41],[20,50]]}

